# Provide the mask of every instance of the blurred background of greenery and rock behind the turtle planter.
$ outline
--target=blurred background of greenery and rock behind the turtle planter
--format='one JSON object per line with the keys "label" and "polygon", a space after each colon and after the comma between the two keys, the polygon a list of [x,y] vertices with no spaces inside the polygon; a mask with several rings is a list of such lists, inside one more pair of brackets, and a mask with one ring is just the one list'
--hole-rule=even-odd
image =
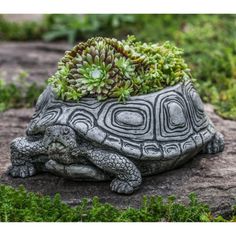
{"label": "blurred background of greenery and rock behind the turtle planter", "polygon": [[131,34],[181,47],[204,102],[236,120],[236,15],[0,15],[0,111],[33,106],[77,42]]}

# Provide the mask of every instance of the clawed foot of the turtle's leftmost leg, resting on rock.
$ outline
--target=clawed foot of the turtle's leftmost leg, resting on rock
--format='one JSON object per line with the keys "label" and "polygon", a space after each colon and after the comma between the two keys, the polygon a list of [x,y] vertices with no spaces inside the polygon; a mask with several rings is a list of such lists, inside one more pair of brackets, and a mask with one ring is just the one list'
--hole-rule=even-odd
{"label": "clawed foot of the turtle's leftmost leg, resting on rock", "polygon": [[34,166],[30,163],[24,165],[13,165],[9,168],[8,173],[12,177],[26,178],[36,174]]}

